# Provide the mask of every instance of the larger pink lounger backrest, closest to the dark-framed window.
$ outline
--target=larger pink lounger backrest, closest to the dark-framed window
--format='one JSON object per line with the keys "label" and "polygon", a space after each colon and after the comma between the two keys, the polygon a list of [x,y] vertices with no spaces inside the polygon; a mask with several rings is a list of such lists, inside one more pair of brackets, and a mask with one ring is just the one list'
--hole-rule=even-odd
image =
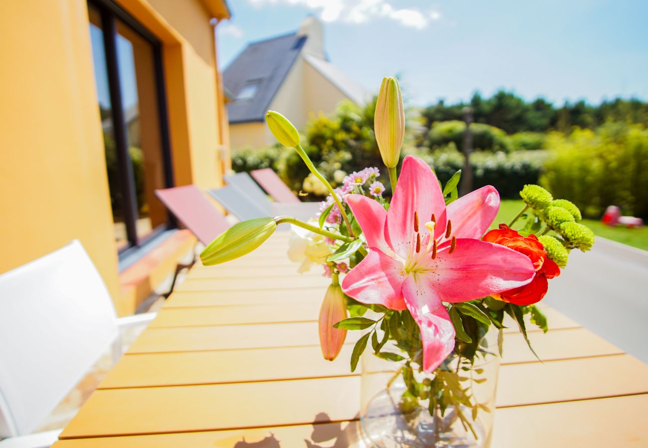
{"label": "larger pink lounger backrest, closest to the dark-framed window", "polygon": [[225,216],[195,185],[156,190],[156,196],[204,245],[229,229]]}

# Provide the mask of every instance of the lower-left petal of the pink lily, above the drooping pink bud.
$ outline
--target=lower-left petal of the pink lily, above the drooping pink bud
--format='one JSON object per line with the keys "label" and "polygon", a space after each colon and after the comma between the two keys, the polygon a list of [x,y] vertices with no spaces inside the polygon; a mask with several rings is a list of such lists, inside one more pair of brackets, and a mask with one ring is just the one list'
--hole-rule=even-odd
{"label": "lower-left petal of the pink lily, above the drooping pink bud", "polygon": [[380,304],[389,309],[405,309],[400,289],[405,274],[397,260],[381,251],[369,251],[362,262],[344,277],[342,291],[364,304]]}

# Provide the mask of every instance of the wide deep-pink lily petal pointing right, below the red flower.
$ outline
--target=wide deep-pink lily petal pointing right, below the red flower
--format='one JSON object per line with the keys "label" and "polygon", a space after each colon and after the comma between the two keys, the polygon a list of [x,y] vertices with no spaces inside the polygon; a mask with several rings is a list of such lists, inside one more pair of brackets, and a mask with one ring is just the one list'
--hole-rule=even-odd
{"label": "wide deep-pink lily petal pointing right, below the red flower", "polygon": [[526,285],[535,275],[526,255],[499,244],[463,238],[457,240],[452,254],[439,251],[436,260],[429,260],[428,269],[428,278],[441,300],[452,303]]}

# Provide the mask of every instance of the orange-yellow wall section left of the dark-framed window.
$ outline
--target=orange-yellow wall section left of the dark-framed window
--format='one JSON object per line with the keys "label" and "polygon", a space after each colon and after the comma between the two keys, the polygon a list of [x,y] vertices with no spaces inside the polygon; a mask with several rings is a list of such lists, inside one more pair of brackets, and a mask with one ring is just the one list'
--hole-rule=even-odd
{"label": "orange-yellow wall section left of the dark-framed window", "polygon": [[78,238],[119,297],[86,2],[2,1],[0,36],[0,272]]}

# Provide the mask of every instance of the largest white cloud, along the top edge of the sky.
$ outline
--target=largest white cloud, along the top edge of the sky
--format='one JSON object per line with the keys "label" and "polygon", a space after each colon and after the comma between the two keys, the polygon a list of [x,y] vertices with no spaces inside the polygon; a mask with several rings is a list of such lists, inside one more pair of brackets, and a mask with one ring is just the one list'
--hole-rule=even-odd
{"label": "largest white cloud, along the top edge of the sky", "polygon": [[367,23],[384,17],[397,21],[404,27],[422,30],[430,21],[441,19],[441,13],[433,10],[425,14],[414,8],[397,8],[386,0],[248,0],[254,6],[293,5],[305,6],[318,13],[325,22]]}

